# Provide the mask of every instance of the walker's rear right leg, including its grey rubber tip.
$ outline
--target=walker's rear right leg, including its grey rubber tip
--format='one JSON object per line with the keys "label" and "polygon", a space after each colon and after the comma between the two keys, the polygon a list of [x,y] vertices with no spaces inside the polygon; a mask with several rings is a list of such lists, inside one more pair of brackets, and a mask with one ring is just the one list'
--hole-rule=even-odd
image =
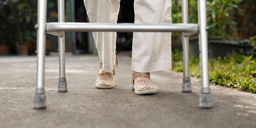
{"label": "walker's rear right leg, including its grey rubber tip", "polygon": [[[181,1],[182,23],[188,23],[188,0]],[[182,92],[191,92],[191,81],[189,76],[189,41],[188,36],[182,35],[183,47],[183,82]]]}

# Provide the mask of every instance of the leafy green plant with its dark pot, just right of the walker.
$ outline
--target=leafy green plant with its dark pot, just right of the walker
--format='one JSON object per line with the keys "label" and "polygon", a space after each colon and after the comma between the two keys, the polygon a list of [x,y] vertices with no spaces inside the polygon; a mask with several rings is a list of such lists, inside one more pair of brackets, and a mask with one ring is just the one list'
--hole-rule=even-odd
{"label": "leafy green plant with its dark pot, just right of the walker", "polygon": [[[207,21],[210,26],[208,35],[221,36],[221,40],[208,40],[210,58],[232,55],[241,42],[237,32],[237,23],[232,14],[242,0],[207,1]],[[248,42],[248,41],[247,41]]]}

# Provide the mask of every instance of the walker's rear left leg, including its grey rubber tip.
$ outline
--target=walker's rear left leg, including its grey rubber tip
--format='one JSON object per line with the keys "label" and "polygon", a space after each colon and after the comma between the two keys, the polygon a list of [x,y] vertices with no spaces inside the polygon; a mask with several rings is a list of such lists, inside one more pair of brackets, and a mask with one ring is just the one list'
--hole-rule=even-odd
{"label": "walker's rear left leg, including its grey rubber tip", "polygon": [[[59,22],[64,20],[64,0],[58,0],[58,18]],[[60,63],[60,77],[58,82],[58,92],[67,92],[67,81],[65,76],[65,35],[59,36],[59,63]]]}

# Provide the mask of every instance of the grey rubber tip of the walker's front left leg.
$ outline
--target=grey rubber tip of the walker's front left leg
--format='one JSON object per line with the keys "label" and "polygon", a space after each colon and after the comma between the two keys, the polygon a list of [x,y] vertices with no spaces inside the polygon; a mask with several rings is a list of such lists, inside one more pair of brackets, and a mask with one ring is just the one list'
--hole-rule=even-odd
{"label": "grey rubber tip of the walker's front left leg", "polygon": [[46,108],[45,94],[34,95],[34,103],[36,109]]}

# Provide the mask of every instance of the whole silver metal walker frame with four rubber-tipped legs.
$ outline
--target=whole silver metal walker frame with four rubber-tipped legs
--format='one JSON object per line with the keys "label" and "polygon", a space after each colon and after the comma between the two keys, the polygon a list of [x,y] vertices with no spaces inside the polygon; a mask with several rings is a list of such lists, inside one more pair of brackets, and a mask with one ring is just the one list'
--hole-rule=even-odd
{"label": "whole silver metal walker frame with four rubber-tipped legs", "polygon": [[65,77],[65,31],[116,31],[116,32],[182,32],[183,45],[183,82],[182,92],[191,92],[189,76],[189,42],[188,36],[199,33],[199,52],[202,88],[199,95],[199,107],[212,107],[212,94],[209,87],[208,41],[206,22],[206,0],[197,0],[198,24],[188,23],[188,0],[181,0],[182,24],[99,24],[99,23],[68,23],[64,21],[64,0],[58,0],[59,22],[46,23],[47,0],[38,0],[37,15],[37,83],[34,96],[35,108],[46,108],[44,91],[44,63],[46,33],[59,36],[60,77],[58,92],[67,92]]}

